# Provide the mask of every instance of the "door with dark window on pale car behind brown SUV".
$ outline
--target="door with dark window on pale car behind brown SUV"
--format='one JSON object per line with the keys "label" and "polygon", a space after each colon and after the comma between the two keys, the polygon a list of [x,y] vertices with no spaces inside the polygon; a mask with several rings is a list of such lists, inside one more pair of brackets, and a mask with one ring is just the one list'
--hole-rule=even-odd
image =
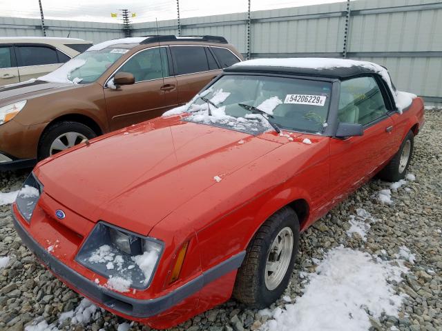
{"label": "door with dark window on pale car behind brown SUV", "polygon": [[44,76],[59,68],[70,58],[52,46],[15,44],[20,81]]}

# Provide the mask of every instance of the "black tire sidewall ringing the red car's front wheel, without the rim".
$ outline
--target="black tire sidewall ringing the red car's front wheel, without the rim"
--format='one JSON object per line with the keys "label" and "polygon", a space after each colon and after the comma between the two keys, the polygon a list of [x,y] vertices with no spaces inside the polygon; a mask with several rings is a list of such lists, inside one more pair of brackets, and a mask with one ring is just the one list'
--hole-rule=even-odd
{"label": "black tire sidewall ringing the red car's front wheel, without the rim", "polygon": [[[296,256],[298,255],[299,248],[299,221],[298,217],[296,217],[296,213],[291,210],[291,213],[286,212],[283,217],[275,218],[276,221],[272,224],[272,230],[269,232],[269,236],[264,241],[265,254],[260,255],[259,266],[258,266],[258,289],[257,289],[257,297],[256,303],[260,308],[268,307],[271,303],[275,302],[280,298],[282,293],[287,288],[287,285],[290,281],[291,273],[294,268]],[[289,263],[289,267],[287,268],[287,272],[282,279],[281,283],[274,290],[268,290],[265,285],[265,267],[267,264],[267,255],[269,254],[269,250],[271,248],[271,244],[273,240],[276,238],[276,235],[285,227],[291,228],[294,235],[294,248],[291,254],[291,260]]]}

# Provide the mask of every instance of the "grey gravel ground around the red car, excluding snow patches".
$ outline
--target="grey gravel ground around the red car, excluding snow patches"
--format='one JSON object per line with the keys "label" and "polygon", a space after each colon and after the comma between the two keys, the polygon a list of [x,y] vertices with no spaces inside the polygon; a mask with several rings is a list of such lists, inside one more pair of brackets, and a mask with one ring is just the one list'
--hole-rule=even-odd
{"label": "grey gravel ground around the red car, excluding snow patches", "polygon": [[[395,285],[398,293],[405,293],[405,305],[396,317],[371,319],[372,330],[438,330],[442,331],[442,112],[427,111],[426,124],[415,139],[414,157],[409,172],[415,181],[408,181],[392,190],[392,205],[376,199],[389,183],[374,179],[334,208],[301,235],[300,254],[291,284],[285,292],[292,302],[302,294],[304,272],[314,272],[327,250],[344,245],[347,248],[376,254],[381,259],[394,260],[401,246],[414,254],[414,263],[405,262],[410,271]],[[1,192],[17,190],[26,172],[0,174]],[[367,241],[357,234],[349,237],[350,215],[364,208],[379,219],[371,224]],[[81,298],[52,277],[35,261],[17,237],[12,226],[10,206],[0,206],[0,257],[10,261],[0,269],[0,330],[22,330],[35,321],[57,321],[61,312],[73,310]],[[300,272],[302,271],[302,272]],[[290,300],[290,299],[289,299]],[[287,297],[271,309],[283,308]],[[268,317],[256,310],[248,310],[236,301],[229,301],[213,310],[186,321],[173,330],[258,330]],[[320,317],[318,317],[320,318]],[[72,324],[69,319],[57,328],[64,330],[117,330],[125,323],[115,315],[97,310],[94,318],[85,323]],[[392,326],[394,325],[394,326]],[[123,324],[120,330],[123,330]],[[150,330],[133,323],[131,330]]]}

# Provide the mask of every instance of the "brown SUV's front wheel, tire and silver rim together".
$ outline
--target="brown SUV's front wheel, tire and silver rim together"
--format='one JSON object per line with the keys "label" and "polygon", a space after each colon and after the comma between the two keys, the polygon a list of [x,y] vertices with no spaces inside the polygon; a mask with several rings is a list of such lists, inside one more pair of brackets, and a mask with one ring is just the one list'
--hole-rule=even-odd
{"label": "brown SUV's front wheel, tire and silver rim together", "polygon": [[97,134],[82,123],[64,121],[55,123],[43,134],[39,143],[39,160],[71,148]]}

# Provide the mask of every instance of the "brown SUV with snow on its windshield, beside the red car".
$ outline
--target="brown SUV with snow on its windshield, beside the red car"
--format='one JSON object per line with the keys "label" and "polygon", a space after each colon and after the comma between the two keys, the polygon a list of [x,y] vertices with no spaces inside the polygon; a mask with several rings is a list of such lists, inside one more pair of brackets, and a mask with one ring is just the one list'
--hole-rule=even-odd
{"label": "brown SUV with snow on its windshield, beside the red car", "polygon": [[223,37],[152,36],[92,46],[0,88],[0,170],[26,168],[84,139],[160,116],[242,60]]}

